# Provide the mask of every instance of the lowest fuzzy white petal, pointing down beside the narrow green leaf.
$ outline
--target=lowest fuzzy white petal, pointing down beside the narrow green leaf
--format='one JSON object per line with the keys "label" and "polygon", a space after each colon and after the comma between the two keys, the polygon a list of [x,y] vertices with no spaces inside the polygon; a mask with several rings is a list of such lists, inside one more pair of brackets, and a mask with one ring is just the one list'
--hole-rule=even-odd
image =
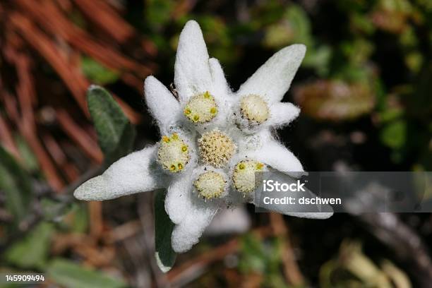
{"label": "lowest fuzzy white petal, pointing down beside the narrow green leaf", "polygon": [[187,211],[184,220],[174,227],[171,244],[174,251],[183,253],[192,248],[203,234],[204,230],[217,213],[219,206],[212,201],[202,205],[193,203],[193,208]]}

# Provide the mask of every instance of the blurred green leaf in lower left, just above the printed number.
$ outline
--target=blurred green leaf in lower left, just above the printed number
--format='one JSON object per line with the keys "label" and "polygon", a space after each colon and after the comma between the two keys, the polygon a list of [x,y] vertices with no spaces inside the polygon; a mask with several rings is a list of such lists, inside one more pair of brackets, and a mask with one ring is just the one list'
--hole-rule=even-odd
{"label": "blurred green leaf in lower left, just above the printed number", "polygon": [[43,268],[49,255],[49,244],[54,227],[47,222],[40,223],[35,229],[5,253],[8,263],[19,268]]}

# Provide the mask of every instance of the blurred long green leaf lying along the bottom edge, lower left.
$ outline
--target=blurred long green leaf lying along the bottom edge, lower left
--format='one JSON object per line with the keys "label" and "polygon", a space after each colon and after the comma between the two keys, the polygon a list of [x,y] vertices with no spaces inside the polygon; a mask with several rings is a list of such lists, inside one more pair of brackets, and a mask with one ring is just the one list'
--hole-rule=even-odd
{"label": "blurred long green leaf lying along the bottom edge, lower left", "polygon": [[111,277],[104,272],[83,268],[70,260],[57,258],[47,267],[47,277],[64,287],[80,288],[118,288],[126,287],[119,277]]}

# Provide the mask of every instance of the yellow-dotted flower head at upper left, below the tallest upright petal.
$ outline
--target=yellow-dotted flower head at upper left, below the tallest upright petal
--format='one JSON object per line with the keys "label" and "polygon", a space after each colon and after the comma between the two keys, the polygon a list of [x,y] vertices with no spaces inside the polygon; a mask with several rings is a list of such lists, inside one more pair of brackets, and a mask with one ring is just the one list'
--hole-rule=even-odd
{"label": "yellow-dotted flower head at upper left, below the tallest upright petal", "polygon": [[186,107],[184,116],[192,123],[205,123],[217,115],[215,98],[208,91],[191,97]]}

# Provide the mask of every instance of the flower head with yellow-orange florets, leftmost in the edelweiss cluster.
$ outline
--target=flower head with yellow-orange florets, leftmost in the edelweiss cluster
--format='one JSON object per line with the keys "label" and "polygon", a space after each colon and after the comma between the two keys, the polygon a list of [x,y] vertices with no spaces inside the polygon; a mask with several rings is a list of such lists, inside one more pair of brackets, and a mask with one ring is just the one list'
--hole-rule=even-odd
{"label": "flower head with yellow-orange florets, leftmost in the edelweiss cluster", "polygon": [[157,160],[162,168],[172,172],[180,172],[188,164],[189,148],[177,133],[172,136],[163,136],[157,150]]}

